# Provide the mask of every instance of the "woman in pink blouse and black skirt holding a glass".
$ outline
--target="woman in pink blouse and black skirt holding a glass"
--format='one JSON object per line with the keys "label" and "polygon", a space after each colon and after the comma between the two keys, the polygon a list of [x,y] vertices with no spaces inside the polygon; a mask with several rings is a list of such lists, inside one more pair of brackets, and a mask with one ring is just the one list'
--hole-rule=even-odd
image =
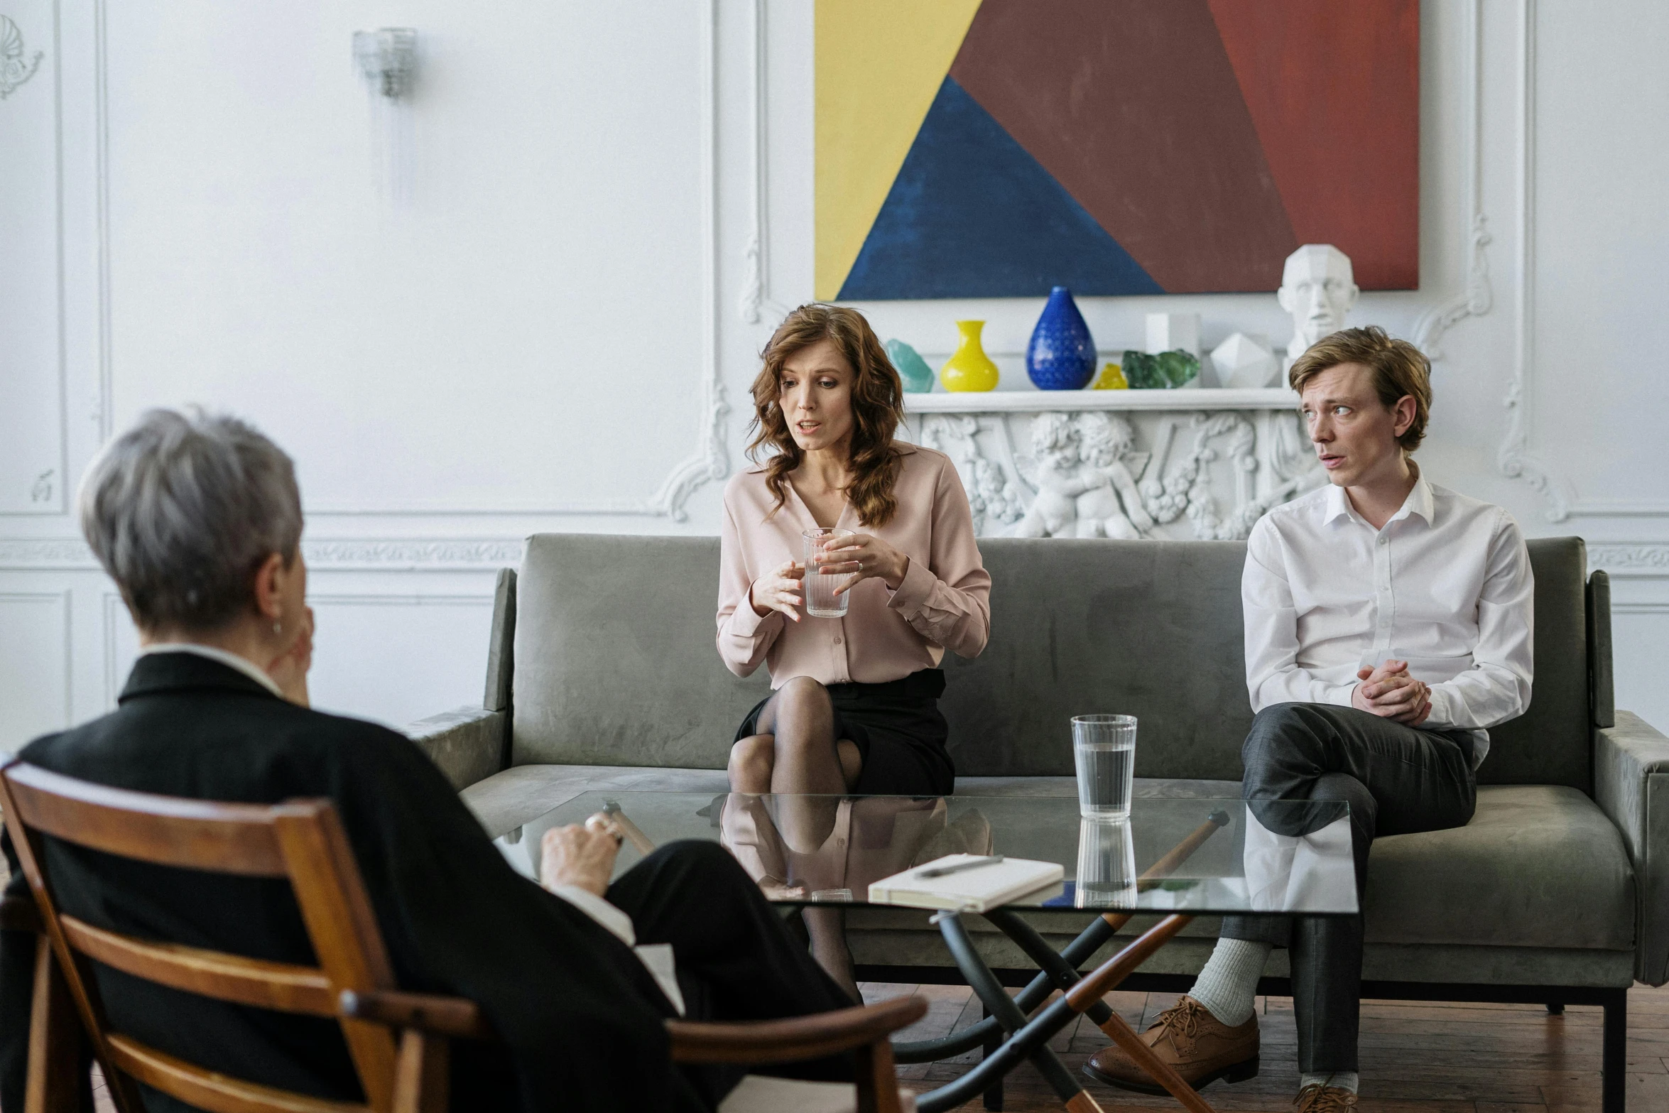
{"label": "woman in pink blouse and black skirt holding a glass", "polygon": [[[718,647],[738,676],[763,661],[774,691],[736,731],[731,789],[948,796],[938,666],[946,649],[978,656],[991,627],[956,467],[893,439],[903,384],[856,310],[801,305],[763,359],[749,454],[769,456],[724,487]],[[806,569],[801,534],[819,526],[855,532]],[[803,611],[808,574],[846,581],[845,617]],[[784,809],[776,826],[794,853],[840,841],[833,806]],[[811,911],[813,953],[850,985],[840,933]]]}

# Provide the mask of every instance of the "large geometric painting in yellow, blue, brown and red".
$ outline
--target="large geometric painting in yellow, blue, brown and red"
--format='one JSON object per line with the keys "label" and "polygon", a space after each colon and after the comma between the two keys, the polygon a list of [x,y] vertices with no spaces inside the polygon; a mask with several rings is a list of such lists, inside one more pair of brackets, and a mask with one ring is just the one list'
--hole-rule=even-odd
{"label": "large geometric painting in yellow, blue, brown and red", "polygon": [[816,295],[1417,289],[1419,0],[818,0]]}

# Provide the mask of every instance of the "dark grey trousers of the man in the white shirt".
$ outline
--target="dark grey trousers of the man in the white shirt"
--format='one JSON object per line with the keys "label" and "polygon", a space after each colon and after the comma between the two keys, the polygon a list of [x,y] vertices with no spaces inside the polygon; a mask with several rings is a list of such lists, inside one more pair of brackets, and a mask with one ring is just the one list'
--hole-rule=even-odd
{"label": "dark grey trousers of the man in the white shirt", "polygon": [[[1310,818],[1280,814],[1260,809],[1263,801],[1350,804],[1359,903],[1375,836],[1460,828],[1477,804],[1467,731],[1422,731],[1355,708],[1265,708],[1252,721],[1240,756],[1245,764],[1240,794],[1275,834],[1308,834],[1334,816],[1327,809]],[[1292,951],[1300,1071],[1357,1070],[1362,916],[1223,916],[1222,938]]]}

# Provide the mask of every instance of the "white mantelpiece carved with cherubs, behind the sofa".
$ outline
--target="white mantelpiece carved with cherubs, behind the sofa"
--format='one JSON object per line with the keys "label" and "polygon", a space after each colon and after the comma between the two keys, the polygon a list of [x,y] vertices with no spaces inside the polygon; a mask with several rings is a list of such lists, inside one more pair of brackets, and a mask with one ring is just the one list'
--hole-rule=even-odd
{"label": "white mantelpiece carved with cherubs, behind the sofa", "polygon": [[[981,536],[1238,541],[1325,482],[1285,387],[906,394]],[[1041,496],[1041,497],[1040,497]]]}

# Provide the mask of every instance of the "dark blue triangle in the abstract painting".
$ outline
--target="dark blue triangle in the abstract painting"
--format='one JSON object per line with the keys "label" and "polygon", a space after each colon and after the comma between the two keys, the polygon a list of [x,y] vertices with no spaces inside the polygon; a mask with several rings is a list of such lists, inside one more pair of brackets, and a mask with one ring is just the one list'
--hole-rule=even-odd
{"label": "dark blue triangle in the abstract painting", "polygon": [[840,289],[841,300],[1163,294],[950,77]]}

